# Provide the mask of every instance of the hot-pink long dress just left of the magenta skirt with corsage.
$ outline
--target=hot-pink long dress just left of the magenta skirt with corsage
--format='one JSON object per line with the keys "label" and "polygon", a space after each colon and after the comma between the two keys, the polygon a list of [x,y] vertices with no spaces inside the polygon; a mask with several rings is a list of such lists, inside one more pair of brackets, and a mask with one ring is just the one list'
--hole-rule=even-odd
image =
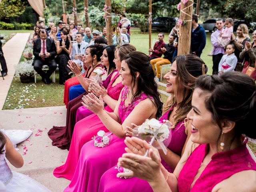
{"label": "hot-pink long dress just left of the magenta skirt with corsage", "polygon": [[[118,76],[119,74],[117,73],[108,85],[108,95],[114,100],[118,100],[122,88],[124,87],[122,82],[112,87],[112,84],[116,78],[118,78]],[[105,110],[108,112],[113,112],[109,106],[106,106]],[[64,165],[57,167],[54,170],[54,176],[64,177],[68,180],[72,179],[76,169],[76,164],[78,162],[80,149],[86,142],[92,140],[92,137],[96,135],[99,130],[108,132],[97,114],[89,115],[75,124],[66,162]]]}

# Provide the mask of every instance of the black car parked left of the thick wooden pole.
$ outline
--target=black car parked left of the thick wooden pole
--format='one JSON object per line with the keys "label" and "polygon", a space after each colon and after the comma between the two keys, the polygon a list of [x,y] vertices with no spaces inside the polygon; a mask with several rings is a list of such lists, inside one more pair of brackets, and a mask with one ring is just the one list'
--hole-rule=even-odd
{"label": "black car parked left of the thick wooden pole", "polygon": [[170,32],[176,24],[176,18],[156,17],[152,20],[152,30]]}

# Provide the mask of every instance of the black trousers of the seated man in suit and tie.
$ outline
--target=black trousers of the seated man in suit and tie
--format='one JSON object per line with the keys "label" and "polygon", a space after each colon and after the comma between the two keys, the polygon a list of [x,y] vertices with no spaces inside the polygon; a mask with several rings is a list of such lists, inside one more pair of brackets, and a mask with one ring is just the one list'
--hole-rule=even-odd
{"label": "black trousers of the seated man in suit and tie", "polygon": [[[43,65],[47,65],[49,67],[49,70],[47,70],[46,73],[42,70]],[[56,70],[56,68],[57,68],[57,65],[54,59],[53,60],[49,60],[48,58],[46,58],[45,60],[37,59],[34,62],[34,70],[36,70],[36,72],[40,74],[42,78],[49,79],[51,74]]]}

